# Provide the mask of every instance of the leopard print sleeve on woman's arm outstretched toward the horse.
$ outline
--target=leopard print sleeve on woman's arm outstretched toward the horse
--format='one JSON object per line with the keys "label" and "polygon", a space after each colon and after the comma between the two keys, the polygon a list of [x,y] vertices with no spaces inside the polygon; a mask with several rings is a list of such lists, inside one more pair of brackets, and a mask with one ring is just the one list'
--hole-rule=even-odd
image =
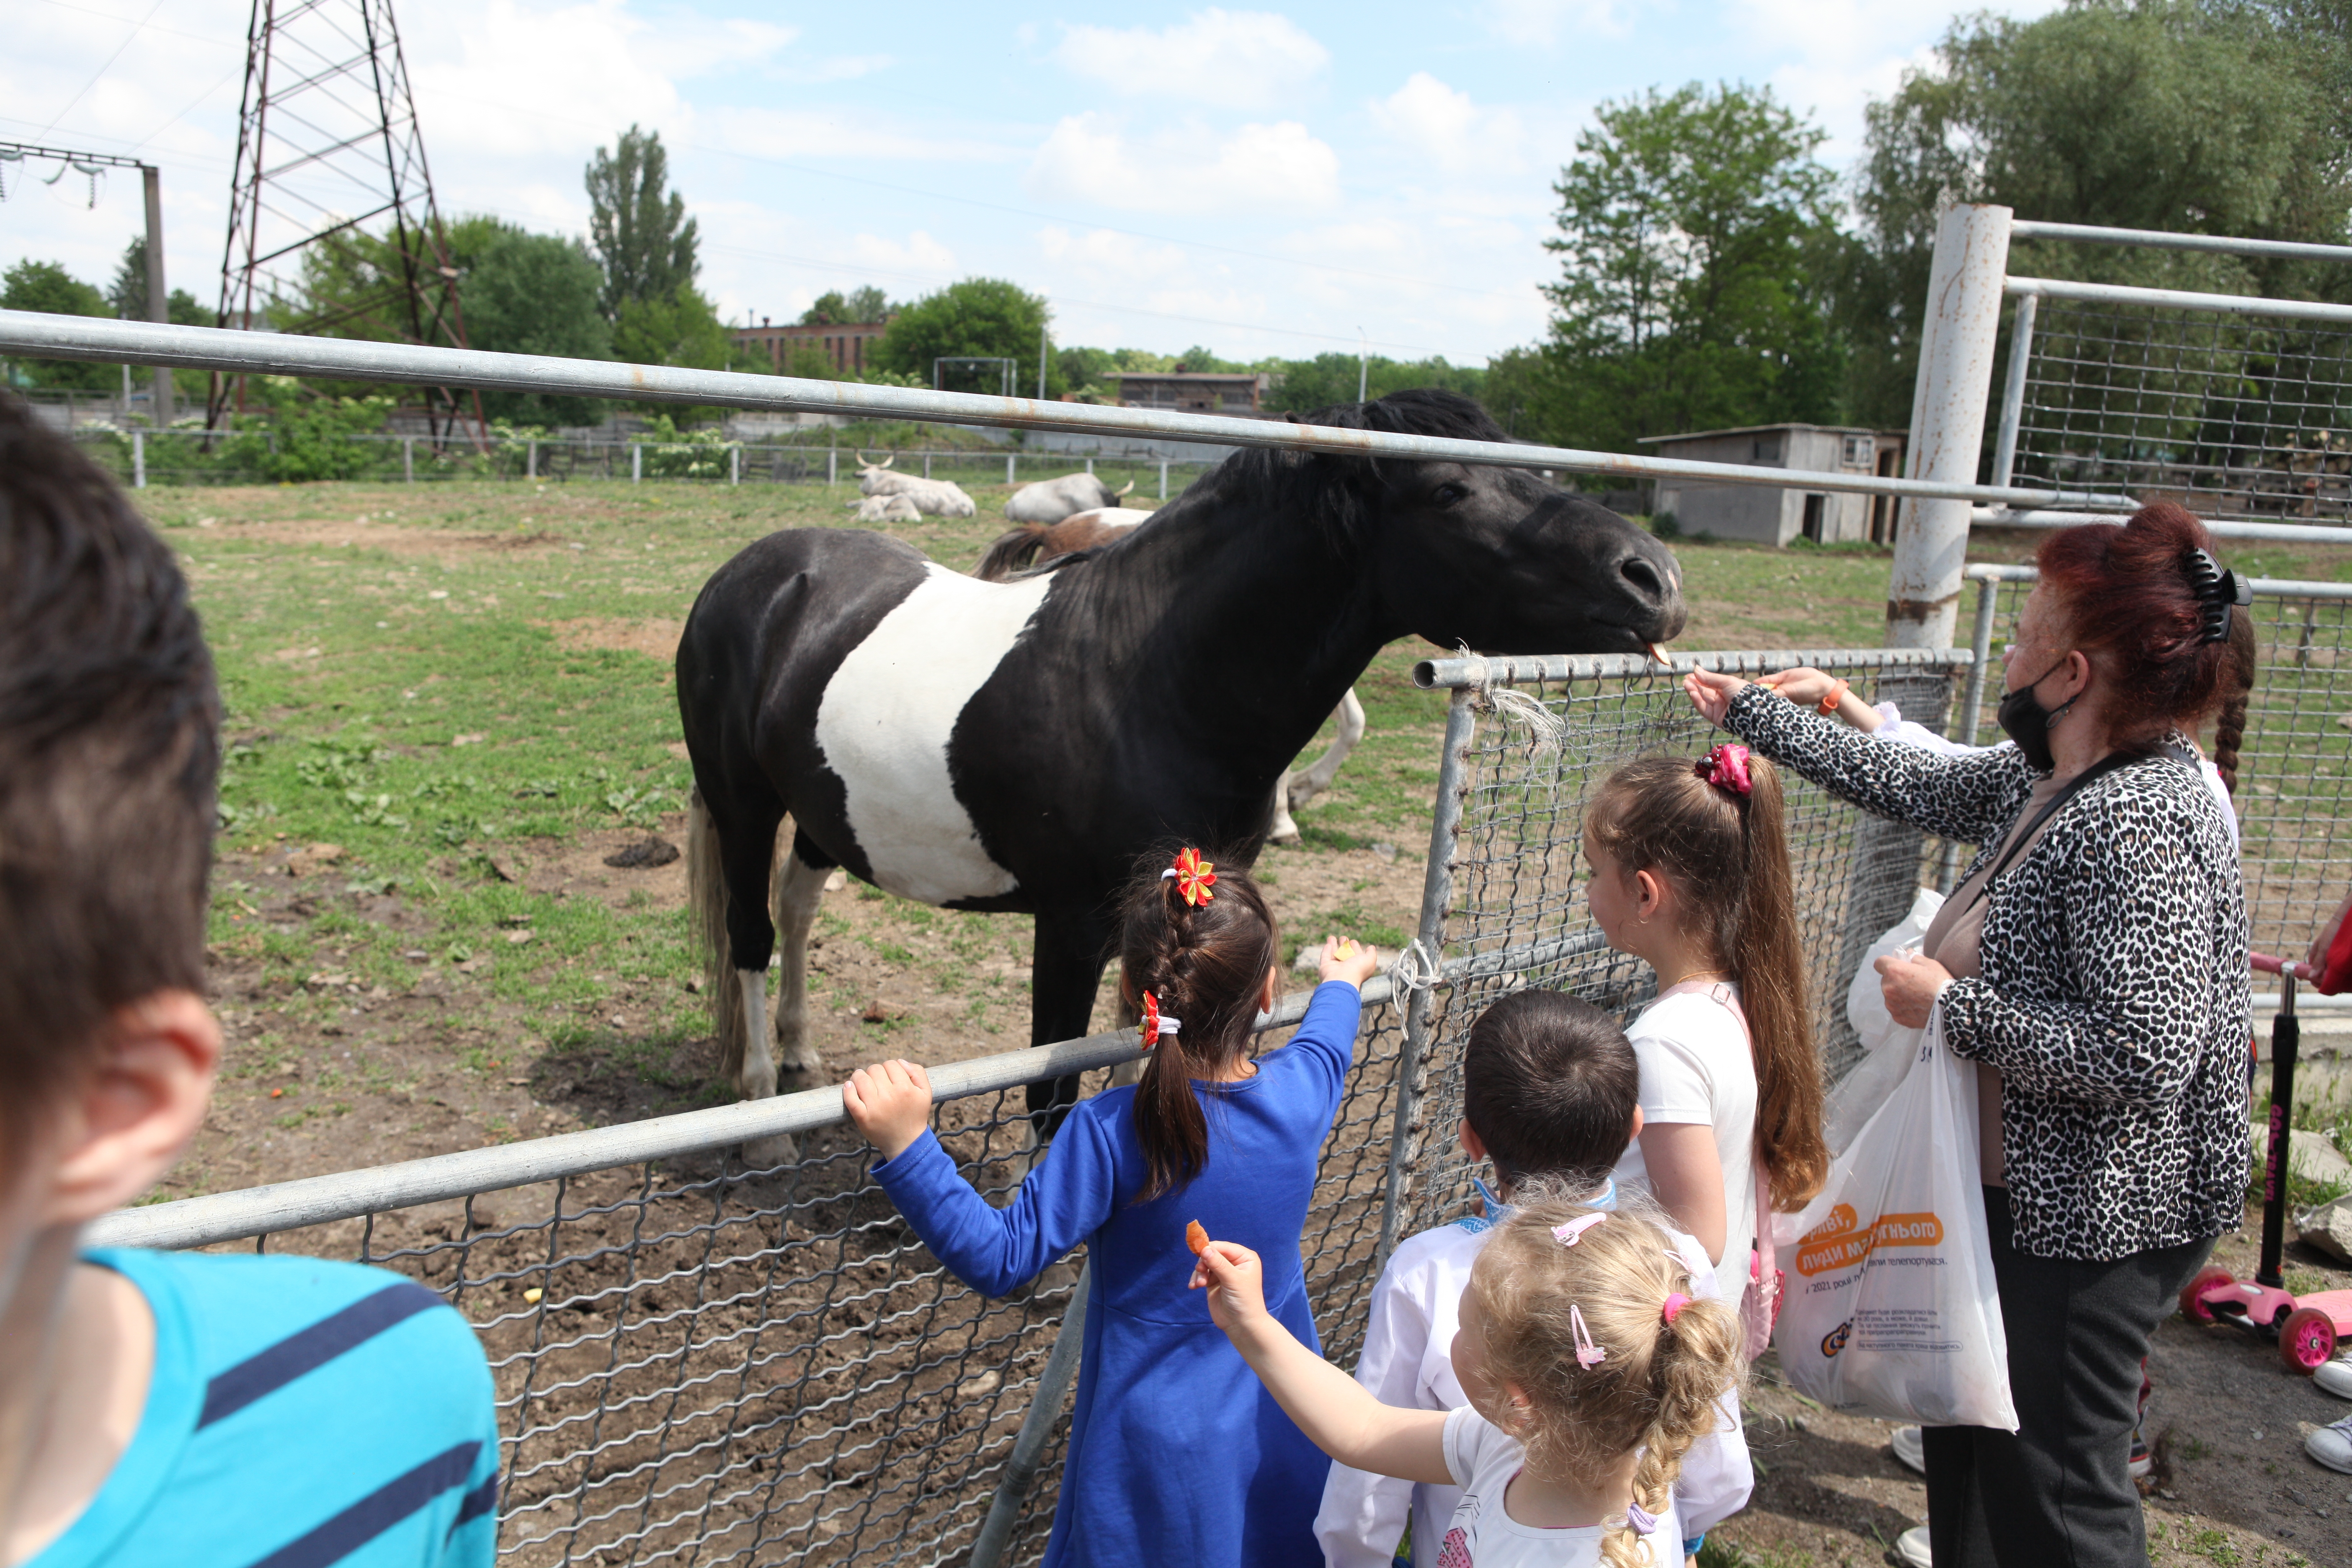
{"label": "leopard print sleeve on woman's arm outstretched toward the horse", "polygon": [[1959,757],[1889,745],[1797,708],[1759,682],[1731,698],[1724,729],[1863,811],[1964,844],[1999,837],[2039,778],[2016,745]]}

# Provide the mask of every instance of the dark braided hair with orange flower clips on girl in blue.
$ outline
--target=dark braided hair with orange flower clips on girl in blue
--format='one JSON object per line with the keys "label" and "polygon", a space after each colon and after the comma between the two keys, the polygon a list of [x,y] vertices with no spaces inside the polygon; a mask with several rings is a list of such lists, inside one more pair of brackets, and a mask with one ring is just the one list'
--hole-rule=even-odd
{"label": "dark braided hair with orange flower clips on girl in blue", "polygon": [[[1202,856],[1211,858],[1211,856]],[[1174,851],[1136,865],[1120,910],[1120,990],[1143,992],[1183,1027],[1162,1034],[1136,1084],[1136,1140],[1150,1171],[1134,1201],[1183,1187],[1209,1166],[1209,1119],[1192,1079],[1216,1079],[1244,1048],[1258,992],[1275,966],[1275,917],[1247,872],[1218,865],[1211,896],[1185,903],[1162,872]]]}

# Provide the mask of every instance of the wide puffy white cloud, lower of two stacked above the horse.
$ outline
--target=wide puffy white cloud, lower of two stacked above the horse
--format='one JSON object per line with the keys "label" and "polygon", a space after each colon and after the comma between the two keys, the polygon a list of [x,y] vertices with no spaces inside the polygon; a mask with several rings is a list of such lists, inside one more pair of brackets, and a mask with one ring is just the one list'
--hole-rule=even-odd
{"label": "wide puffy white cloud, lower of two stacked above the horse", "polygon": [[1216,136],[1200,125],[1129,139],[1110,115],[1068,115],[1037,148],[1030,190],[1131,212],[1329,207],[1338,153],[1296,120]]}

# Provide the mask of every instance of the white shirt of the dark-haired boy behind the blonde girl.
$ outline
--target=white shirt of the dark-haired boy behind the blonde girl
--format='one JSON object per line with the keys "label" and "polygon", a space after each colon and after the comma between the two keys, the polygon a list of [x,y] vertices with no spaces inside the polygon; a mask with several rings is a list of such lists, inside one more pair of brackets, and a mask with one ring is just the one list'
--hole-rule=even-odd
{"label": "white shirt of the dark-haired boy behind the blonde girl", "polygon": [[[1609,1197],[1597,1206],[1609,1208],[1613,1201]],[[1468,1403],[1454,1380],[1454,1333],[1461,1328],[1470,1265],[1491,1234],[1491,1218],[1463,1218],[1406,1237],[1390,1253],[1381,1284],[1371,1291],[1364,1354],[1355,1363],[1355,1380],[1374,1399],[1409,1410],[1458,1410]],[[1668,1241],[1691,1272],[1691,1295],[1719,1298],[1705,1248],[1679,1229],[1670,1229]],[[1691,1443],[1682,1455],[1682,1474],[1675,1476],[1675,1512],[1689,1535],[1738,1514],[1755,1490],[1738,1396],[1726,1392],[1722,1410],[1717,1429]],[[1315,1540],[1327,1568],[1388,1568],[1404,1521],[1411,1519],[1414,1561],[1430,1568],[1456,1502],[1456,1486],[1397,1481],[1334,1465],[1315,1512]]]}

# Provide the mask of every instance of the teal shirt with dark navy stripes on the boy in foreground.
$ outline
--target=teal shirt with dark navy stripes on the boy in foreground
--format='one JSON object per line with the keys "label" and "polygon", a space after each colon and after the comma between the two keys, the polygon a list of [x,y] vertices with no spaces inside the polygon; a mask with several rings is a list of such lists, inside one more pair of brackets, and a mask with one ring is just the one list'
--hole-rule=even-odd
{"label": "teal shirt with dark navy stripes on the boy in foreground", "polygon": [[139,1432],[26,1568],[487,1568],[482,1342],[423,1286],[294,1255],[94,1251],[155,1312]]}

